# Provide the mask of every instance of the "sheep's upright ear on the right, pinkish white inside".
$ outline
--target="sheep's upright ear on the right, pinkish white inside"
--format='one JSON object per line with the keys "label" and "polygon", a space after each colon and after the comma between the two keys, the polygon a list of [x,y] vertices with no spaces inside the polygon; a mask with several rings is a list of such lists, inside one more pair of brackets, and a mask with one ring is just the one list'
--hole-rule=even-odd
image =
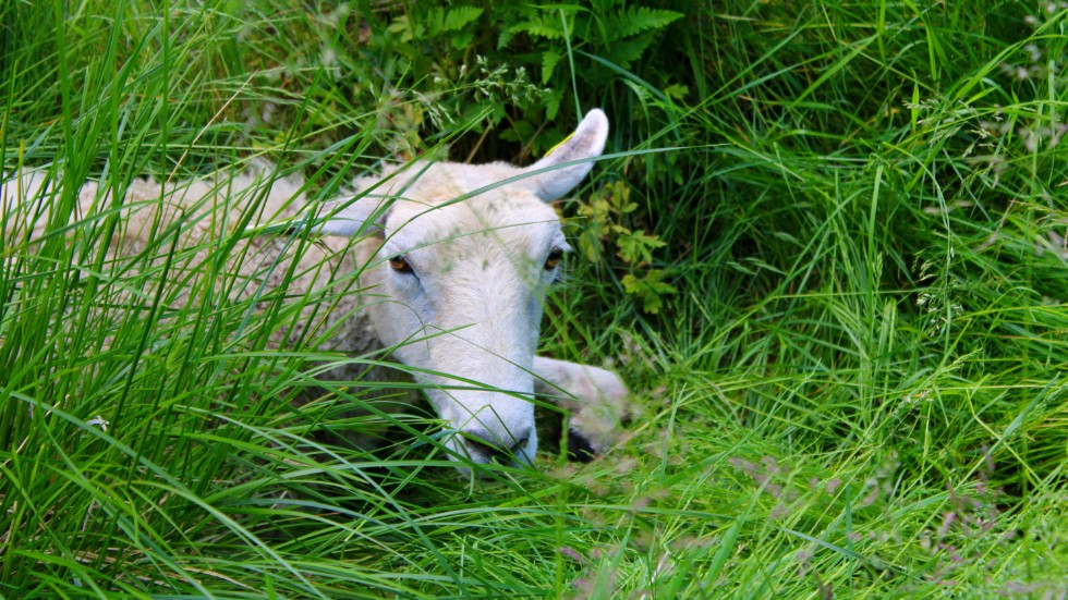
{"label": "sheep's upright ear on the right, pinkish white inside", "polygon": [[[523,172],[531,173],[577,160],[596,158],[605,150],[605,140],[607,139],[608,118],[600,109],[593,109],[586,113],[585,119],[579,123],[579,128],[573,134],[562,144],[549,150],[545,158],[523,169]],[[591,169],[593,169],[593,160],[587,160],[579,164],[560,167],[531,175],[522,180],[519,185],[530,187],[539,198],[550,201],[579,185],[579,182],[590,173]]]}

